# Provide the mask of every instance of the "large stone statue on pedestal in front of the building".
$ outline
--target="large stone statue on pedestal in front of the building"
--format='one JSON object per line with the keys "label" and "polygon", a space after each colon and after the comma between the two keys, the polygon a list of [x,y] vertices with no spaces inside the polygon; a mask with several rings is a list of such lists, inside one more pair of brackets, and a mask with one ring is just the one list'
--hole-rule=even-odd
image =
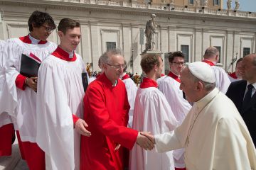
{"label": "large stone statue on pedestal in front of the building", "polygon": [[145,29],[145,35],[146,35],[146,48],[144,52],[151,51],[154,49],[154,34],[156,33],[156,24],[154,22],[156,18],[156,14],[151,14],[151,18],[149,21],[146,22],[146,29]]}

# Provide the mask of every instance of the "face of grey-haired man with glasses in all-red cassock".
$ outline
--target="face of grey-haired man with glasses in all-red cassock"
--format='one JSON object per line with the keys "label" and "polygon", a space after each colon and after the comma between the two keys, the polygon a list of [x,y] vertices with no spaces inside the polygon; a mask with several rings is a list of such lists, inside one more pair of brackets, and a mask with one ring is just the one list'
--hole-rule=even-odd
{"label": "face of grey-haired man with glasses in all-red cassock", "polygon": [[121,55],[112,55],[110,62],[106,64],[105,74],[110,81],[115,81],[120,78],[124,72],[124,57]]}

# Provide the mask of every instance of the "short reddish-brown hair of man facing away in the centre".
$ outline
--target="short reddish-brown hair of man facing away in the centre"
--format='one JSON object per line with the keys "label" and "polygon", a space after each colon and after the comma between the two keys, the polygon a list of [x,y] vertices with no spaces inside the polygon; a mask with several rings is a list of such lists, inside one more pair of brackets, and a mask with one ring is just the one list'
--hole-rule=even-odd
{"label": "short reddish-brown hair of man facing away in the centre", "polygon": [[154,68],[154,65],[157,65],[159,67],[160,62],[159,62],[159,57],[161,57],[158,54],[146,54],[142,57],[141,61],[141,67],[143,72],[146,74],[151,71],[151,69]]}

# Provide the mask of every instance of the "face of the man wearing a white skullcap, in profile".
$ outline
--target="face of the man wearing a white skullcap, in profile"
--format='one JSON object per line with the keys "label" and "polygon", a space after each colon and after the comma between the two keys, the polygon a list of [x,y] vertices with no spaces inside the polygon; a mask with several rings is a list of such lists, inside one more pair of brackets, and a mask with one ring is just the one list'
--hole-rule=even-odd
{"label": "face of the man wearing a white skullcap, in profile", "polygon": [[189,70],[188,67],[183,69],[181,71],[181,85],[180,89],[184,91],[186,95],[186,99],[189,102],[195,102],[196,101],[196,83],[192,81],[190,74],[188,74]]}

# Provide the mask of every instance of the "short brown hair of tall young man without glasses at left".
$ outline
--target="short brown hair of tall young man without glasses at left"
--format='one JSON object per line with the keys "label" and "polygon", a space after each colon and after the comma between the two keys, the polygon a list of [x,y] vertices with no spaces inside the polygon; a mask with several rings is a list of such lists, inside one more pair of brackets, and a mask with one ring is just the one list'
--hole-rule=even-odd
{"label": "short brown hair of tall young man without glasses at left", "polygon": [[60,23],[58,25],[58,31],[61,31],[65,34],[68,29],[73,29],[75,27],[80,28],[80,22],[78,20],[63,18],[62,20],[60,20]]}

